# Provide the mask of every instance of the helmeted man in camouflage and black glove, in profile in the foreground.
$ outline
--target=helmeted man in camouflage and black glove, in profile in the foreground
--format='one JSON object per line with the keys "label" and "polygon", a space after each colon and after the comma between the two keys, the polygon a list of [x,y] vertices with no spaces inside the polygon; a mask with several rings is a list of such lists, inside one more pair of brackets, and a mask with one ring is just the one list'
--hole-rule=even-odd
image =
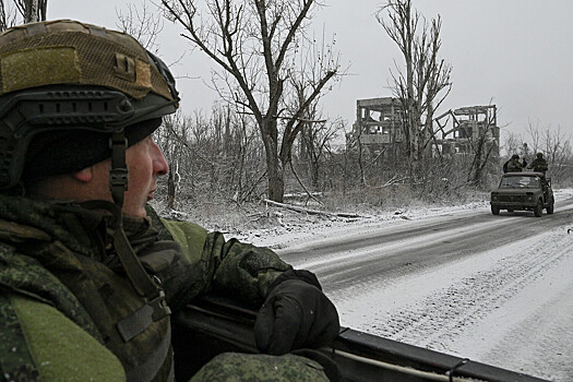
{"label": "helmeted man in camouflage and black glove, in profile in the foreground", "polygon": [[312,273],[147,206],[168,171],[151,134],[179,102],[160,59],[52,21],[0,35],[0,379],[172,381],[170,314],[217,293],[261,307],[276,356],[226,354],[195,380],[327,380],[288,354],[339,331]]}

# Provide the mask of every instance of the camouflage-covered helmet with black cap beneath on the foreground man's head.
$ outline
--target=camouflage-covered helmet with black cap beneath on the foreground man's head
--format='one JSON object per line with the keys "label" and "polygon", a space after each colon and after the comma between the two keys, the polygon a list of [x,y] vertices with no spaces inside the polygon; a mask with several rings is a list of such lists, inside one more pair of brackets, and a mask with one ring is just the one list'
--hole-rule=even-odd
{"label": "camouflage-covered helmet with black cap beneath on the foreground man's head", "polygon": [[[56,175],[104,160],[112,134],[132,145],[178,102],[167,65],[124,33],[70,20],[10,28],[0,35],[0,189],[15,186],[27,167]],[[85,142],[92,139],[97,143]],[[56,143],[93,155],[49,168],[38,153]]]}

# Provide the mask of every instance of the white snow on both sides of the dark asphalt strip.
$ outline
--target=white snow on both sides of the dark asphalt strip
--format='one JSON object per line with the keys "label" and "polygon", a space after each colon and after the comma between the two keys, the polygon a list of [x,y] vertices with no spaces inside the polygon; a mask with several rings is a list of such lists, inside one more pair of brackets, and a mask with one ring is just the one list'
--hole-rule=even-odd
{"label": "white snow on both sides of the dark asphalt strip", "polygon": [[[571,195],[573,190],[556,191],[557,201]],[[258,246],[293,249],[308,240],[363,235],[396,219],[423,220],[488,208],[484,201],[359,219],[283,224],[239,237]],[[573,381],[572,274],[573,240],[561,227],[439,270],[401,276],[383,288],[330,297],[345,326],[552,381]]]}

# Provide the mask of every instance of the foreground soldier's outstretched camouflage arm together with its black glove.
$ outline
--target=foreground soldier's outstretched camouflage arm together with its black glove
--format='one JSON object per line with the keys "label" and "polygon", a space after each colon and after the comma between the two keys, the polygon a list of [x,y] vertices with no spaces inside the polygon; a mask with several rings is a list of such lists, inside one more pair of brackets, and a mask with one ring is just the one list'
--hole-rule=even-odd
{"label": "foreground soldier's outstretched camouflage arm together with its black glove", "polygon": [[260,307],[254,325],[256,346],[273,355],[324,346],[338,334],[336,308],[312,273],[294,271],[267,248],[226,241],[223,234],[207,234],[192,223],[162,219],[160,225],[182,247],[181,262],[189,270],[183,273],[194,272],[178,277],[181,288],[175,289],[183,293],[169,294],[166,288],[171,309],[208,291]]}

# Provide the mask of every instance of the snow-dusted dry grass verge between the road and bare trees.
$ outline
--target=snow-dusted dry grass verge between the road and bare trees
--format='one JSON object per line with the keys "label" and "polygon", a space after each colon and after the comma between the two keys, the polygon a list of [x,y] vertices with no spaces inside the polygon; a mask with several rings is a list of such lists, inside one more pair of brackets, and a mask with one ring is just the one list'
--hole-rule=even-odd
{"label": "snow-dusted dry grass verge between the road and bare trees", "polygon": [[[441,207],[461,205],[487,200],[488,192],[476,189],[457,190],[443,196],[419,198],[417,192],[406,184],[385,188],[367,188],[332,192],[320,196],[318,203],[312,199],[286,200],[285,203],[318,210],[327,213],[347,213],[361,216],[399,213],[419,207]],[[202,201],[203,200],[203,201]],[[329,215],[314,215],[295,212],[264,202],[237,204],[230,199],[215,201],[213,198],[181,199],[176,201],[175,210],[167,208],[164,192],[159,192],[153,206],[162,216],[194,222],[208,230],[237,234],[246,230],[273,228],[285,225],[308,225],[325,219],[335,219]]]}

